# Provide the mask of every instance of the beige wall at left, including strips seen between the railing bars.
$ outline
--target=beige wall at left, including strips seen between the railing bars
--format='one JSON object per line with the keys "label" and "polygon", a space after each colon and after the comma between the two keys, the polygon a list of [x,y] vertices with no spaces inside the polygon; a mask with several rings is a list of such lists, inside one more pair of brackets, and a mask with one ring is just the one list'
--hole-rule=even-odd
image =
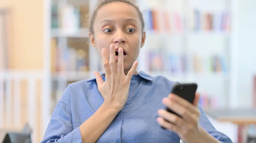
{"label": "beige wall at left, including strips seen between the railing bars", "polygon": [[[0,0],[0,8],[10,10],[9,33],[9,68],[15,70],[43,70],[44,59],[44,0]],[[39,142],[42,138],[41,131],[41,91],[42,82],[36,84],[37,93],[37,121],[34,122],[34,135]],[[28,85],[22,81],[20,99],[21,99],[21,127],[29,120],[27,116],[28,104]],[[35,98],[36,99],[36,98]],[[5,121],[6,123],[6,121]],[[33,126],[33,127],[34,127]],[[15,126],[16,128],[16,126]]]}

